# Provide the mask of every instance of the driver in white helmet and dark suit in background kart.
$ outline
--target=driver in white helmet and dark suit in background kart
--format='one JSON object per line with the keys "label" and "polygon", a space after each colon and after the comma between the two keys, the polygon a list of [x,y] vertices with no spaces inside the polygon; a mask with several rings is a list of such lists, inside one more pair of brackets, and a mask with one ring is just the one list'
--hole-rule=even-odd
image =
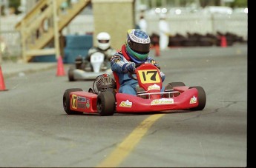
{"label": "driver in white helmet and dark suit in background kart", "polygon": [[82,57],[76,58],[76,68],[93,71],[91,55],[96,52],[103,53],[105,56],[101,70],[105,71],[111,67],[111,57],[116,53],[116,50],[111,47],[111,36],[107,32],[101,32],[96,36],[96,40],[96,46],[93,46],[88,50],[88,56],[85,57],[84,64],[82,64]]}

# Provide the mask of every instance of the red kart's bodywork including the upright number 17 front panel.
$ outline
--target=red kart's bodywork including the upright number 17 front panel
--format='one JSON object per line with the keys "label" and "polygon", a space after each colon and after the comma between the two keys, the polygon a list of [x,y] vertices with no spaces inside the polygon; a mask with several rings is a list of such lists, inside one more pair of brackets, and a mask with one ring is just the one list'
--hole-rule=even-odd
{"label": "red kart's bodywork including the upright number 17 front panel", "polygon": [[[187,86],[174,87],[174,91],[179,91],[178,95],[161,96],[162,80],[160,70],[151,64],[142,64],[136,69],[137,80],[140,87],[147,90],[150,98],[141,98],[137,95],[116,93],[115,112],[154,112],[165,110],[187,110],[198,106],[197,89]],[[116,79],[118,82],[118,79]],[[116,84],[119,87],[119,84]],[[118,90],[118,88],[117,88]],[[163,95],[163,94],[162,94]],[[97,113],[97,95],[85,91],[70,93],[70,110],[86,113]]]}

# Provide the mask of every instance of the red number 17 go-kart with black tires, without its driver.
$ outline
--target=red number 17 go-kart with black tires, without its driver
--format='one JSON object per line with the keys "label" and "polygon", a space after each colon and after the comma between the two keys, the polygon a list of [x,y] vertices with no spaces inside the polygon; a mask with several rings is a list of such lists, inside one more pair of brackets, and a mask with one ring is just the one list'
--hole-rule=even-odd
{"label": "red number 17 go-kart with black tires, without its driver", "polygon": [[116,73],[102,74],[96,77],[88,91],[80,88],[65,90],[63,108],[68,115],[114,115],[122,112],[194,111],[203,110],[206,106],[206,93],[200,86],[188,87],[183,82],[171,82],[161,92],[160,70],[153,64],[141,64],[130,77],[138,81],[140,89],[137,95],[118,93]]}

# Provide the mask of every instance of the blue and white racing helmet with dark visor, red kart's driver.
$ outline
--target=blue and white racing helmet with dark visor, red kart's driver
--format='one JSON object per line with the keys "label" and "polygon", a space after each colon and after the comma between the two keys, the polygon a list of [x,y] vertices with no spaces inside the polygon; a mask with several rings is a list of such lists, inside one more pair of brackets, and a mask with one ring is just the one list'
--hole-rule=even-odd
{"label": "blue and white racing helmet with dark visor, red kart's driver", "polygon": [[128,56],[135,63],[143,63],[148,58],[151,40],[147,33],[140,29],[130,29],[125,41]]}

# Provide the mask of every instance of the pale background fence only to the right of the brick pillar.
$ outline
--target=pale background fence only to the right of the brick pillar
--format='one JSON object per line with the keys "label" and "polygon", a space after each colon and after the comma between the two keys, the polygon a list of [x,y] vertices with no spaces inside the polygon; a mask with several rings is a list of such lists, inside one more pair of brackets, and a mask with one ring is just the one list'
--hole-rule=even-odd
{"label": "pale background fence only to the right of the brick pillar", "polygon": [[[157,33],[159,16],[153,14],[145,14],[145,19],[148,22],[148,33]],[[199,34],[216,34],[234,33],[237,36],[242,36],[247,40],[247,14],[246,13],[184,13],[183,15],[167,15],[171,34],[181,34],[186,36],[187,33]]]}

